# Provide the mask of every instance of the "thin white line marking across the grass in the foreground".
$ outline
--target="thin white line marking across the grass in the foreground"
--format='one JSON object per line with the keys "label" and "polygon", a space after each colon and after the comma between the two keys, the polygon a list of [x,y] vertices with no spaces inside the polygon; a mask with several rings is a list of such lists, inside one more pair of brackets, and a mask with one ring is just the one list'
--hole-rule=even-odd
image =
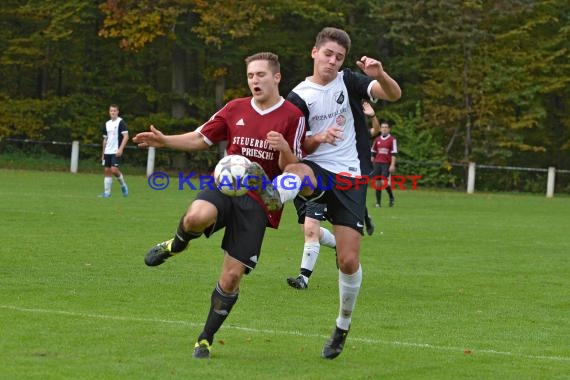
{"label": "thin white line marking across the grass in the foreground", "polygon": [[[0,309],[14,310],[14,311],[19,311],[19,312],[23,312],[23,313],[59,314],[59,315],[68,315],[71,317],[108,319],[108,320],[114,320],[114,321],[131,321],[131,322],[144,322],[144,323],[159,322],[159,323],[164,323],[164,324],[186,325],[186,326],[192,326],[192,327],[201,327],[203,325],[203,323],[181,321],[181,320],[159,319],[159,318],[121,317],[121,316],[114,316],[114,315],[80,313],[80,312],[65,311],[65,310],[31,309],[31,308],[24,308],[24,307],[11,306],[11,305],[0,305]],[[325,336],[325,335],[307,334],[307,333],[303,333],[300,331],[254,329],[254,328],[250,328],[250,327],[234,326],[234,325],[230,325],[230,324],[223,325],[222,328],[247,331],[247,332],[252,332],[252,333],[261,333],[261,334],[296,335],[296,336],[302,336],[305,338],[311,338],[311,337],[323,338],[323,339],[328,338],[328,336]],[[436,345],[429,344],[429,343],[387,341],[387,340],[379,340],[379,339],[357,338],[354,336],[351,336],[350,340],[351,341],[358,341],[361,343],[368,343],[368,344],[372,344],[372,345],[384,344],[384,345],[390,345],[390,346],[427,348],[427,349],[439,350],[439,351],[464,352],[465,350],[467,350],[467,348],[436,346]],[[490,349],[478,349],[478,348],[472,348],[472,347],[468,348],[468,350],[471,351],[473,354],[502,355],[502,356],[513,356],[513,357],[518,357],[518,358],[534,359],[534,360],[553,360],[553,361],[570,362],[570,357],[565,357],[565,356],[527,355],[527,354],[520,354],[520,353],[515,353],[515,352],[497,351],[497,350],[490,350]]]}

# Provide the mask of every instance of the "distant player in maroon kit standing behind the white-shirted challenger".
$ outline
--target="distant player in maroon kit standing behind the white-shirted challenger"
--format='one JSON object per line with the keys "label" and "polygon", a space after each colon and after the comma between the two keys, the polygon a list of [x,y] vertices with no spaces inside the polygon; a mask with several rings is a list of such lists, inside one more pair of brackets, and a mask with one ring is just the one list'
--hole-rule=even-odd
{"label": "distant player in maroon kit standing behind the white-shirted challenger", "polygon": [[[378,136],[372,144],[372,163],[374,169],[372,177],[381,176],[382,179],[376,181],[376,207],[382,205],[383,186],[390,197],[390,207],[394,206],[394,193],[392,193],[390,185],[390,174],[396,171],[396,154],[398,153],[398,144],[396,138],[390,134],[391,127],[387,121],[380,123],[380,136]],[[386,183],[383,183],[386,181]]]}

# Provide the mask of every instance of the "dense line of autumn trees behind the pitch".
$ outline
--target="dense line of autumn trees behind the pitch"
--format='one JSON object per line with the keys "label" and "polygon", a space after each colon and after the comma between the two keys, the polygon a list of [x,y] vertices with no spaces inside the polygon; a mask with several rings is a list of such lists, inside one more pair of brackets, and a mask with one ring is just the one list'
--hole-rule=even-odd
{"label": "dense line of autumn trees behind the pitch", "polygon": [[404,157],[570,169],[567,0],[4,0],[0,138],[99,143],[111,103],[133,133],[194,129],[249,95],[254,52],[286,94],[324,26],[402,86],[376,110]]}

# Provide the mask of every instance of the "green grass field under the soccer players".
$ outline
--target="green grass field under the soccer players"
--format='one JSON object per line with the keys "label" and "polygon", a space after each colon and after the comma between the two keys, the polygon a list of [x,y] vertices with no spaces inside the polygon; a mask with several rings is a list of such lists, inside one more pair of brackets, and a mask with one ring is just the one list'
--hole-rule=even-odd
{"label": "green grass field under the soccer players", "polygon": [[333,361],[320,351],[338,311],[334,253],[321,249],[307,291],[287,286],[303,244],[288,205],[200,361],[221,234],[146,267],[194,193],[126,174],[131,195],[115,183],[101,199],[102,173],[0,170],[0,378],[570,378],[568,197],[397,191],[396,207],[370,208]]}

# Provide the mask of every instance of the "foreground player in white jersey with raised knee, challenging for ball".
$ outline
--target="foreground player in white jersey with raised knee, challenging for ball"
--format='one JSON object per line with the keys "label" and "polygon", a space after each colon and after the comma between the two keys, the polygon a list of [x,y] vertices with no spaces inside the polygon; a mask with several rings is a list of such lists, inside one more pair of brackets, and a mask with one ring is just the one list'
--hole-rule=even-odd
{"label": "foreground player in white jersey with raised knee, challenging for ball", "polygon": [[[339,267],[339,314],[322,356],[337,357],[344,347],[352,312],[362,282],[359,260],[366,208],[366,184],[358,176],[371,172],[369,131],[362,100],[396,101],[398,83],[380,61],[362,56],[357,66],[363,73],[341,71],[350,49],[350,37],[337,28],[324,28],[312,48],[313,75],[287,97],[305,114],[308,130],[302,163],[288,165],[278,176],[279,201],[298,194],[327,204],[333,223]],[[310,183],[308,183],[310,181]],[[279,186],[286,182],[287,186]]]}

